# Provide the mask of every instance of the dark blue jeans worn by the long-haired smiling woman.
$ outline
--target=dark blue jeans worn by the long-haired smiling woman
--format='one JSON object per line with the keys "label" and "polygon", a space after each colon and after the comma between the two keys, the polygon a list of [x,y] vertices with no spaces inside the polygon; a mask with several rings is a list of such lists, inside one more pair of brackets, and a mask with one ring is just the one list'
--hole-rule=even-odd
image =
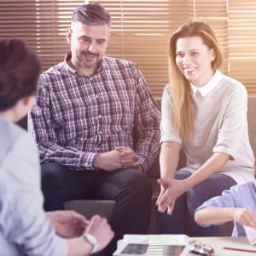
{"label": "dark blue jeans worn by the long-haired smiling woman", "polygon": [[[175,178],[182,180],[191,175],[190,172],[177,171]],[[224,189],[230,189],[236,182],[233,178],[216,173],[204,182],[189,189],[175,201],[172,215],[158,212],[160,233],[186,234],[188,236],[218,236],[218,226],[203,228],[195,223],[195,209],[204,201],[216,195],[221,195]]]}

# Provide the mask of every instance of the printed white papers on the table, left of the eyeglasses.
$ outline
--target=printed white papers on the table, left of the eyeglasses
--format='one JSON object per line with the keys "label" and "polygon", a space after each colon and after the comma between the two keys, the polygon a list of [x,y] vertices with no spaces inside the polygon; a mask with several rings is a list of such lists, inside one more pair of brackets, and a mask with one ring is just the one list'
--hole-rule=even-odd
{"label": "printed white papers on the table, left of the eyeglasses", "polygon": [[125,235],[113,255],[186,255],[183,251],[188,241],[189,236],[185,235]]}

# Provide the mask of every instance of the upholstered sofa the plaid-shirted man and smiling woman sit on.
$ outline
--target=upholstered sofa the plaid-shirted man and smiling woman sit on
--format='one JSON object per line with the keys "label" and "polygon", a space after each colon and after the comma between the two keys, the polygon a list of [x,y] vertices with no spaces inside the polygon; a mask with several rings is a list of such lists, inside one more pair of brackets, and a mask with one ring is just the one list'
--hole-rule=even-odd
{"label": "upholstered sofa the plaid-shirted man and smiling woman sit on", "polygon": [[[158,101],[160,104],[160,101]],[[248,96],[248,131],[250,137],[250,143],[253,148],[253,153],[256,155],[256,96]],[[20,120],[19,125],[26,129],[26,118]],[[183,153],[181,153],[181,158],[179,166],[184,165],[185,158]],[[152,207],[151,207],[151,221],[148,228],[149,234],[155,234],[158,232],[156,223],[156,207],[154,205],[157,195],[159,193],[159,186],[156,182],[157,178],[160,177],[160,166],[159,160],[154,162],[154,165],[148,171],[148,177],[151,178],[152,185],[154,188],[154,194],[152,195]],[[65,204],[67,209],[73,209],[74,211],[84,214],[86,218],[90,218],[93,214],[98,213],[108,219],[111,218],[111,214],[115,207],[115,201],[103,201],[103,200],[75,200],[67,201]],[[220,226],[219,235],[229,236],[231,232],[232,225],[225,224]]]}

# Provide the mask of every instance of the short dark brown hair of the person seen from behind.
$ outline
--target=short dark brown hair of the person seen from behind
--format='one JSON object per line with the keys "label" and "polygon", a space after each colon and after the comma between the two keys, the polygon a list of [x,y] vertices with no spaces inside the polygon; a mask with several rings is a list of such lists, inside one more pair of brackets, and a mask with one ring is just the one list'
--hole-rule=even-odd
{"label": "short dark brown hair of the person seen from behind", "polygon": [[0,40],[0,111],[36,93],[41,63],[19,39]]}

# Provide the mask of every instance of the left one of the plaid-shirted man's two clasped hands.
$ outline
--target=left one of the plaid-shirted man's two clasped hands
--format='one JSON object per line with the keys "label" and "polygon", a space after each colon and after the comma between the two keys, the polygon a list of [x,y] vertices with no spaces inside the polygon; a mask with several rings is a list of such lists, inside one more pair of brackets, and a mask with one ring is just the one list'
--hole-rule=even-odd
{"label": "left one of the plaid-shirted man's two clasped hands", "polygon": [[98,169],[112,172],[123,167],[119,151],[113,149],[96,156],[95,166]]}

